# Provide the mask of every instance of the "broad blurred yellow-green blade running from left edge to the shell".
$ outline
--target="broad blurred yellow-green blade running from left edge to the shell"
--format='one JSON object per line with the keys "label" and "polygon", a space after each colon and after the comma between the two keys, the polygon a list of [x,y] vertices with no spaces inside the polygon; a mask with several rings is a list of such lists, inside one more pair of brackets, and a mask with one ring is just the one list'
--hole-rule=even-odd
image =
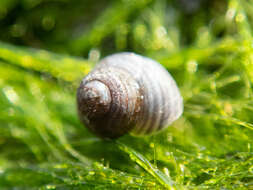
{"label": "broad blurred yellow-green blade running from left edge to the shell", "polygon": [[92,67],[92,63],[85,59],[3,42],[0,42],[0,59],[26,69],[49,73],[68,82],[80,80]]}

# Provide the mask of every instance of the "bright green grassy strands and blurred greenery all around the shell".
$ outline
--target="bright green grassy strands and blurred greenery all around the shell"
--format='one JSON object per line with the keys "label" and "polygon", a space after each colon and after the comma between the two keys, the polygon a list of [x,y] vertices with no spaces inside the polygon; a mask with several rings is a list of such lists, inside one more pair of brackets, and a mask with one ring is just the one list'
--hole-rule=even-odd
{"label": "bright green grassy strands and blurred greenery all around the shell", "polygon": [[[0,0],[0,189],[253,189],[252,30],[252,0]],[[166,67],[185,111],[105,141],[76,88],[121,51]]]}

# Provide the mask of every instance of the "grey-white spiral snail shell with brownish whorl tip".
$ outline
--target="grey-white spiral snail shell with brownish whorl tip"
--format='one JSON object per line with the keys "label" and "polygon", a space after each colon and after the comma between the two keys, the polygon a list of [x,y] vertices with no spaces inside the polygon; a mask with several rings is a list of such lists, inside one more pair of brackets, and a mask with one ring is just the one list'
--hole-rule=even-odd
{"label": "grey-white spiral snail shell with brownish whorl tip", "polygon": [[183,112],[171,75],[156,61],[118,53],[102,59],[77,90],[80,120],[102,138],[160,131]]}

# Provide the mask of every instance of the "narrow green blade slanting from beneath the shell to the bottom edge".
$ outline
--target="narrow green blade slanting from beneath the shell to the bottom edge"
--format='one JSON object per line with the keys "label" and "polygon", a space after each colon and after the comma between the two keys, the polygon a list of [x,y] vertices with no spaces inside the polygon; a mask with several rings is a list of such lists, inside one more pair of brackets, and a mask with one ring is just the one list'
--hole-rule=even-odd
{"label": "narrow green blade slanting from beneath the shell to the bottom edge", "polygon": [[151,174],[164,187],[168,189],[173,189],[175,187],[178,188],[178,186],[175,184],[175,182],[172,181],[169,176],[165,175],[160,170],[152,166],[152,164],[143,155],[119,141],[116,141],[116,144],[122,151],[130,156],[130,159],[132,161],[136,162],[139,166]]}

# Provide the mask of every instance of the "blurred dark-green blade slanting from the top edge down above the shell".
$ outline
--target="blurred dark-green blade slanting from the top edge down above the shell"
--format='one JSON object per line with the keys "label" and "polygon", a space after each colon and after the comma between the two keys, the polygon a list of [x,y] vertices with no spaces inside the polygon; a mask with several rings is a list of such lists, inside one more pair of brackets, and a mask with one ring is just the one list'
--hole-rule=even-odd
{"label": "blurred dark-green blade slanting from the top edge down above the shell", "polygon": [[129,18],[129,15],[138,9],[145,8],[150,2],[152,0],[116,1],[102,12],[91,30],[84,31],[79,37],[70,41],[70,50],[80,55],[91,46],[98,45],[106,36],[118,29],[119,25]]}

